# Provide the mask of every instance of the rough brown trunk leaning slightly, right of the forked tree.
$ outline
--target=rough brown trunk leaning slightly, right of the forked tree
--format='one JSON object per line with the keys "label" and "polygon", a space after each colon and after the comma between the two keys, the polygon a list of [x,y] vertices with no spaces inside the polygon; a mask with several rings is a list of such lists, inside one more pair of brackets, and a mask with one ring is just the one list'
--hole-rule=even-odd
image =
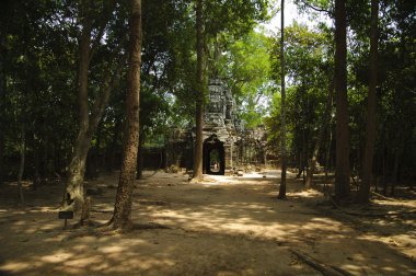
{"label": "rough brown trunk leaning slightly, right of the forked tree", "polygon": [[141,0],[131,0],[130,56],[128,92],[126,96],[127,131],[123,149],[122,172],[118,182],[114,215],[109,222],[114,229],[128,230],[131,223],[131,195],[135,183],[139,146],[140,66],[141,66]]}

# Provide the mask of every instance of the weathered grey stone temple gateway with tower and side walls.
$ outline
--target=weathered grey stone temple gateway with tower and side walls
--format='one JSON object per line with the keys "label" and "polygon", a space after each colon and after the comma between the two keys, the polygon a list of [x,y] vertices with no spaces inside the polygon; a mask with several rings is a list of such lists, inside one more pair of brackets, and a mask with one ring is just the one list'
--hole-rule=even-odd
{"label": "weathered grey stone temple gateway with tower and side walls", "polygon": [[[229,174],[247,164],[261,164],[266,135],[264,128],[244,129],[231,91],[219,79],[208,83],[208,103],[204,114],[205,174]],[[192,170],[195,129],[173,127],[166,143],[166,166]]]}

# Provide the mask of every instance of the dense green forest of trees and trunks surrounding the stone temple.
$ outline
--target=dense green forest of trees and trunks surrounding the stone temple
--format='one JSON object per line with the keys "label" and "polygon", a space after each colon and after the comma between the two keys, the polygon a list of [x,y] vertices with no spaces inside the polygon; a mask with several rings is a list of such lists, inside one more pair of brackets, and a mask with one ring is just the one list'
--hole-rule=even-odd
{"label": "dense green forest of trees and trunks surrounding the stone temple", "polygon": [[314,24],[275,32],[258,25],[284,8],[274,1],[132,2],[2,1],[0,183],[65,180],[66,204],[83,205],[84,176],[122,169],[131,182],[131,160],[172,126],[195,127],[199,179],[207,83],[220,78],[307,186],[319,164],[337,199],[413,187],[414,1],[299,0]]}

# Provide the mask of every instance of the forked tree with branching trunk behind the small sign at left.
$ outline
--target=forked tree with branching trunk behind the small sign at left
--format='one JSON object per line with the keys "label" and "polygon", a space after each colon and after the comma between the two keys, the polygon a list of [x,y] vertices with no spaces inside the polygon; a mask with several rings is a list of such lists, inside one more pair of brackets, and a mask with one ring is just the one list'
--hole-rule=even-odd
{"label": "forked tree with branching trunk behind the small sign at left", "polygon": [[[111,60],[106,65],[107,68],[103,76],[104,81],[99,88],[100,94],[96,96],[93,106],[90,110],[89,73],[91,69],[91,60],[96,51],[96,47],[101,43],[109,15],[113,13],[114,5],[111,4],[103,9],[102,20],[94,20],[93,15],[95,10],[91,2],[81,1],[79,9],[81,15],[81,35],[79,38],[77,71],[79,130],[74,141],[72,157],[70,159],[63,202],[66,208],[73,208],[74,211],[80,211],[84,204],[83,180],[91,139],[96,131],[104,110],[108,103],[111,91],[118,82],[120,67],[124,61],[123,58],[119,58],[116,68],[112,68],[117,51],[119,51],[119,48],[115,47],[116,50],[108,55]],[[92,41],[91,37],[94,37],[94,39]],[[122,43],[119,43],[119,46]],[[81,217],[81,222],[83,220],[84,218]]]}

